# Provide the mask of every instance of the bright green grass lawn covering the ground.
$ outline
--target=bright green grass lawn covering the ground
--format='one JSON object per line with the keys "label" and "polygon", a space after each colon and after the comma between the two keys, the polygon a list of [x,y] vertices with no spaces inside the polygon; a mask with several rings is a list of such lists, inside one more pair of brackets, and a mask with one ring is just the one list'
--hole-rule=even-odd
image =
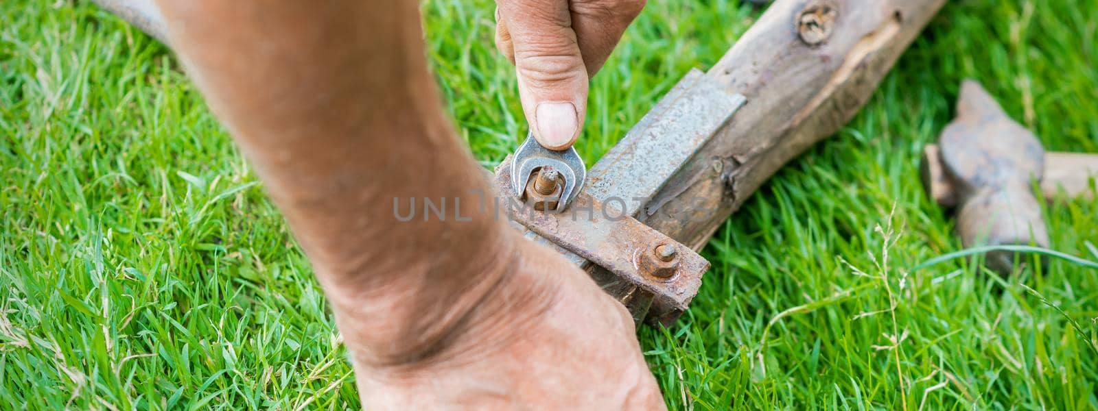
{"label": "bright green grass lawn covering the ground", "polygon": [[[492,2],[426,10],[450,112],[493,165],[525,122]],[[652,1],[592,84],[587,162],[755,16]],[[1045,147],[1098,151],[1096,21],[1095,0],[948,4],[853,122],[717,232],[683,319],[639,332],[668,404],[1098,408],[1098,271],[911,270],[961,249],[918,180],[961,79]],[[358,408],[248,163],[167,49],[87,2],[0,1],[0,408]],[[1045,216],[1055,250],[1098,260],[1098,201]]]}

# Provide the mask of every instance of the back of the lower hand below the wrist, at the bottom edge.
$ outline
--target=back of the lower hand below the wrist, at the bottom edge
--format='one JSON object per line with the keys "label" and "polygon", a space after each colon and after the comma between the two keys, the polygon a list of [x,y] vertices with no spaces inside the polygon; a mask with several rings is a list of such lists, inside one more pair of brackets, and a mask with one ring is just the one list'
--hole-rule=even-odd
{"label": "back of the lower hand below the wrist, at the bottom edge", "polygon": [[625,307],[554,251],[513,240],[506,289],[479,305],[496,309],[412,367],[356,366],[363,408],[665,409]]}

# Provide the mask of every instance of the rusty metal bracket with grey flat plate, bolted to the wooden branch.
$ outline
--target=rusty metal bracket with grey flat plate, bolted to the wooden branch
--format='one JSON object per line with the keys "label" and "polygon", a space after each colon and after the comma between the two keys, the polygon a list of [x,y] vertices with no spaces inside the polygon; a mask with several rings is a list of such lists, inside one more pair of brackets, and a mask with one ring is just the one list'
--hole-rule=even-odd
{"label": "rusty metal bracket with grey flat plate, bolted to the wooden branch", "polygon": [[[652,322],[674,321],[697,294],[708,262],[701,271],[679,272],[672,279],[674,284],[640,272],[638,266],[623,266],[620,262],[637,261],[632,254],[643,247],[673,241],[643,226],[636,217],[746,101],[743,95],[730,92],[701,70],[691,70],[591,168],[580,194],[584,199],[578,199],[572,206],[584,209],[604,207],[608,203],[624,204],[624,216],[628,219],[609,225],[573,221],[571,214],[565,212],[516,221],[526,228],[528,238],[556,247],[586,270],[604,290],[629,309],[636,320],[647,317]],[[505,169],[509,168],[496,169],[497,183],[506,182],[500,179],[508,172]],[[509,183],[497,187],[501,193],[512,191]],[[595,209],[595,214],[601,213],[600,208]],[[586,213],[581,216],[586,217]],[[553,222],[557,226],[550,227]],[[631,237],[623,238],[623,232],[630,232]],[[697,255],[685,246],[673,244],[680,252],[688,251],[691,259]],[[650,313],[650,309],[654,312]]]}

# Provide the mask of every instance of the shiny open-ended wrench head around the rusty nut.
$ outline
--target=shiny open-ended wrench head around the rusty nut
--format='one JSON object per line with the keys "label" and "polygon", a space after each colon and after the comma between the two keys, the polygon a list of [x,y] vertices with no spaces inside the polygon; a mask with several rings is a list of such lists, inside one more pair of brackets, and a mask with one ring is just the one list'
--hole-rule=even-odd
{"label": "shiny open-ended wrench head around the rusty nut", "polygon": [[557,203],[557,212],[563,210],[569,204],[580,195],[583,189],[583,181],[587,178],[587,169],[583,165],[583,159],[575,152],[575,148],[569,147],[565,150],[557,151],[541,147],[534,133],[526,135],[526,141],[515,150],[514,159],[511,161],[511,187],[515,196],[522,197],[526,190],[526,183],[530,181],[534,170],[542,167],[552,167],[560,171],[564,179],[564,187]]}

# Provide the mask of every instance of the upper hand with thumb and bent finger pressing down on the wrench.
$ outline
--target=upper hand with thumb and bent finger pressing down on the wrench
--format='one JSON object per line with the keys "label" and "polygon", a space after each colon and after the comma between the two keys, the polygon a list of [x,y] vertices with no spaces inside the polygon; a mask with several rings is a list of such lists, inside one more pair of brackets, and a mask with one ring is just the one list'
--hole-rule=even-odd
{"label": "upper hand with thumb and bent finger pressing down on the wrench", "polygon": [[587,80],[606,62],[646,0],[496,0],[495,46],[518,72],[534,137],[563,150],[587,110]]}

